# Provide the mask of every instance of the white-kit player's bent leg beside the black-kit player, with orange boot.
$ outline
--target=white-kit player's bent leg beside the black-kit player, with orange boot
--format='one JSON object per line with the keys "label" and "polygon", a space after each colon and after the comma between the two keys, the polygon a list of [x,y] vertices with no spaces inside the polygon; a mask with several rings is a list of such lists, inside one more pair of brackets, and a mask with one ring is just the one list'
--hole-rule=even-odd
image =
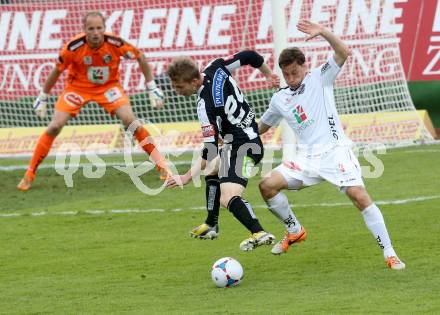
{"label": "white-kit player's bent leg beside the black-kit player, with orange boot", "polygon": [[287,167],[280,165],[266,175],[259,185],[261,196],[269,210],[280,219],[286,228],[284,238],[272,248],[271,252],[274,255],[286,253],[289,246],[307,238],[306,230],[293,213],[287,196],[281,192],[283,189],[299,190],[304,185],[301,180],[289,177],[287,172]]}

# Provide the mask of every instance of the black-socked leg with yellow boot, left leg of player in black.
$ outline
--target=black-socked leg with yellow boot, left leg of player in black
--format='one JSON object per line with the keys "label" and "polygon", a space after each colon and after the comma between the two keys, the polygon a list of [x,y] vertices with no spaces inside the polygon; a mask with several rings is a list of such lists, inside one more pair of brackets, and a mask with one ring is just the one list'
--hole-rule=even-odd
{"label": "black-socked leg with yellow boot, left leg of player in black", "polygon": [[219,235],[218,216],[220,212],[218,166],[205,176],[205,183],[207,218],[203,224],[192,229],[190,235],[200,239],[215,239]]}

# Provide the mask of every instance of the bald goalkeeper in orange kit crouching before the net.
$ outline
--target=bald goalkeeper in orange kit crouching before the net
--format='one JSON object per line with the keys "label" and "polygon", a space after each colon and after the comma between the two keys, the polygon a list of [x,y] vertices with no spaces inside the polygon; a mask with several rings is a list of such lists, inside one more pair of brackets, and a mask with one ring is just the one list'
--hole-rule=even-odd
{"label": "bald goalkeeper in orange kit crouching before the net", "polygon": [[151,105],[161,108],[164,95],[153,80],[145,56],[123,39],[105,33],[105,19],[99,12],[87,13],[83,18],[83,28],[84,33],[75,36],[61,50],[56,66],[34,103],[35,113],[44,117],[48,94],[61,73],[68,69],[65,89],[58,97],[52,121],[39,138],[29,167],[17,186],[20,190],[31,188],[38,165],[49,153],[56,136],[71,117],[78,115],[81,107],[92,101],[109,114],[116,115],[126,128],[134,126],[134,136],[156,164],[161,179],[168,176],[169,169],[165,159],[156,149],[149,132],[133,114],[130,101],[119,82],[121,57],[137,60],[147,82]]}

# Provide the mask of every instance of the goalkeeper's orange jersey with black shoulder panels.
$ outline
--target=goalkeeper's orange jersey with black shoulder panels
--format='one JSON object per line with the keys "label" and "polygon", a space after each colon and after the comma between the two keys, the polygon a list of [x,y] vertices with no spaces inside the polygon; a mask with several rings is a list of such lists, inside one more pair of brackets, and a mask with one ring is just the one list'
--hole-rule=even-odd
{"label": "goalkeeper's orange jersey with black shoulder panels", "polygon": [[103,93],[119,83],[121,57],[137,59],[141,51],[112,34],[104,35],[104,43],[91,48],[84,33],[70,40],[60,51],[57,69],[68,69],[66,88],[89,93]]}

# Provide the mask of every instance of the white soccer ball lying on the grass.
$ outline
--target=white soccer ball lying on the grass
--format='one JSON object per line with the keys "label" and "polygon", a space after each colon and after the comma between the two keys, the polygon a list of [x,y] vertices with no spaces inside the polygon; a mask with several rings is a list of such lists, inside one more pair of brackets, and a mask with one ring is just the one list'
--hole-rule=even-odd
{"label": "white soccer ball lying on the grass", "polygon": [[223,257],[212,265],[212,281],[219,288],[233,287],[243,280],[243,267],[231,257]]}

